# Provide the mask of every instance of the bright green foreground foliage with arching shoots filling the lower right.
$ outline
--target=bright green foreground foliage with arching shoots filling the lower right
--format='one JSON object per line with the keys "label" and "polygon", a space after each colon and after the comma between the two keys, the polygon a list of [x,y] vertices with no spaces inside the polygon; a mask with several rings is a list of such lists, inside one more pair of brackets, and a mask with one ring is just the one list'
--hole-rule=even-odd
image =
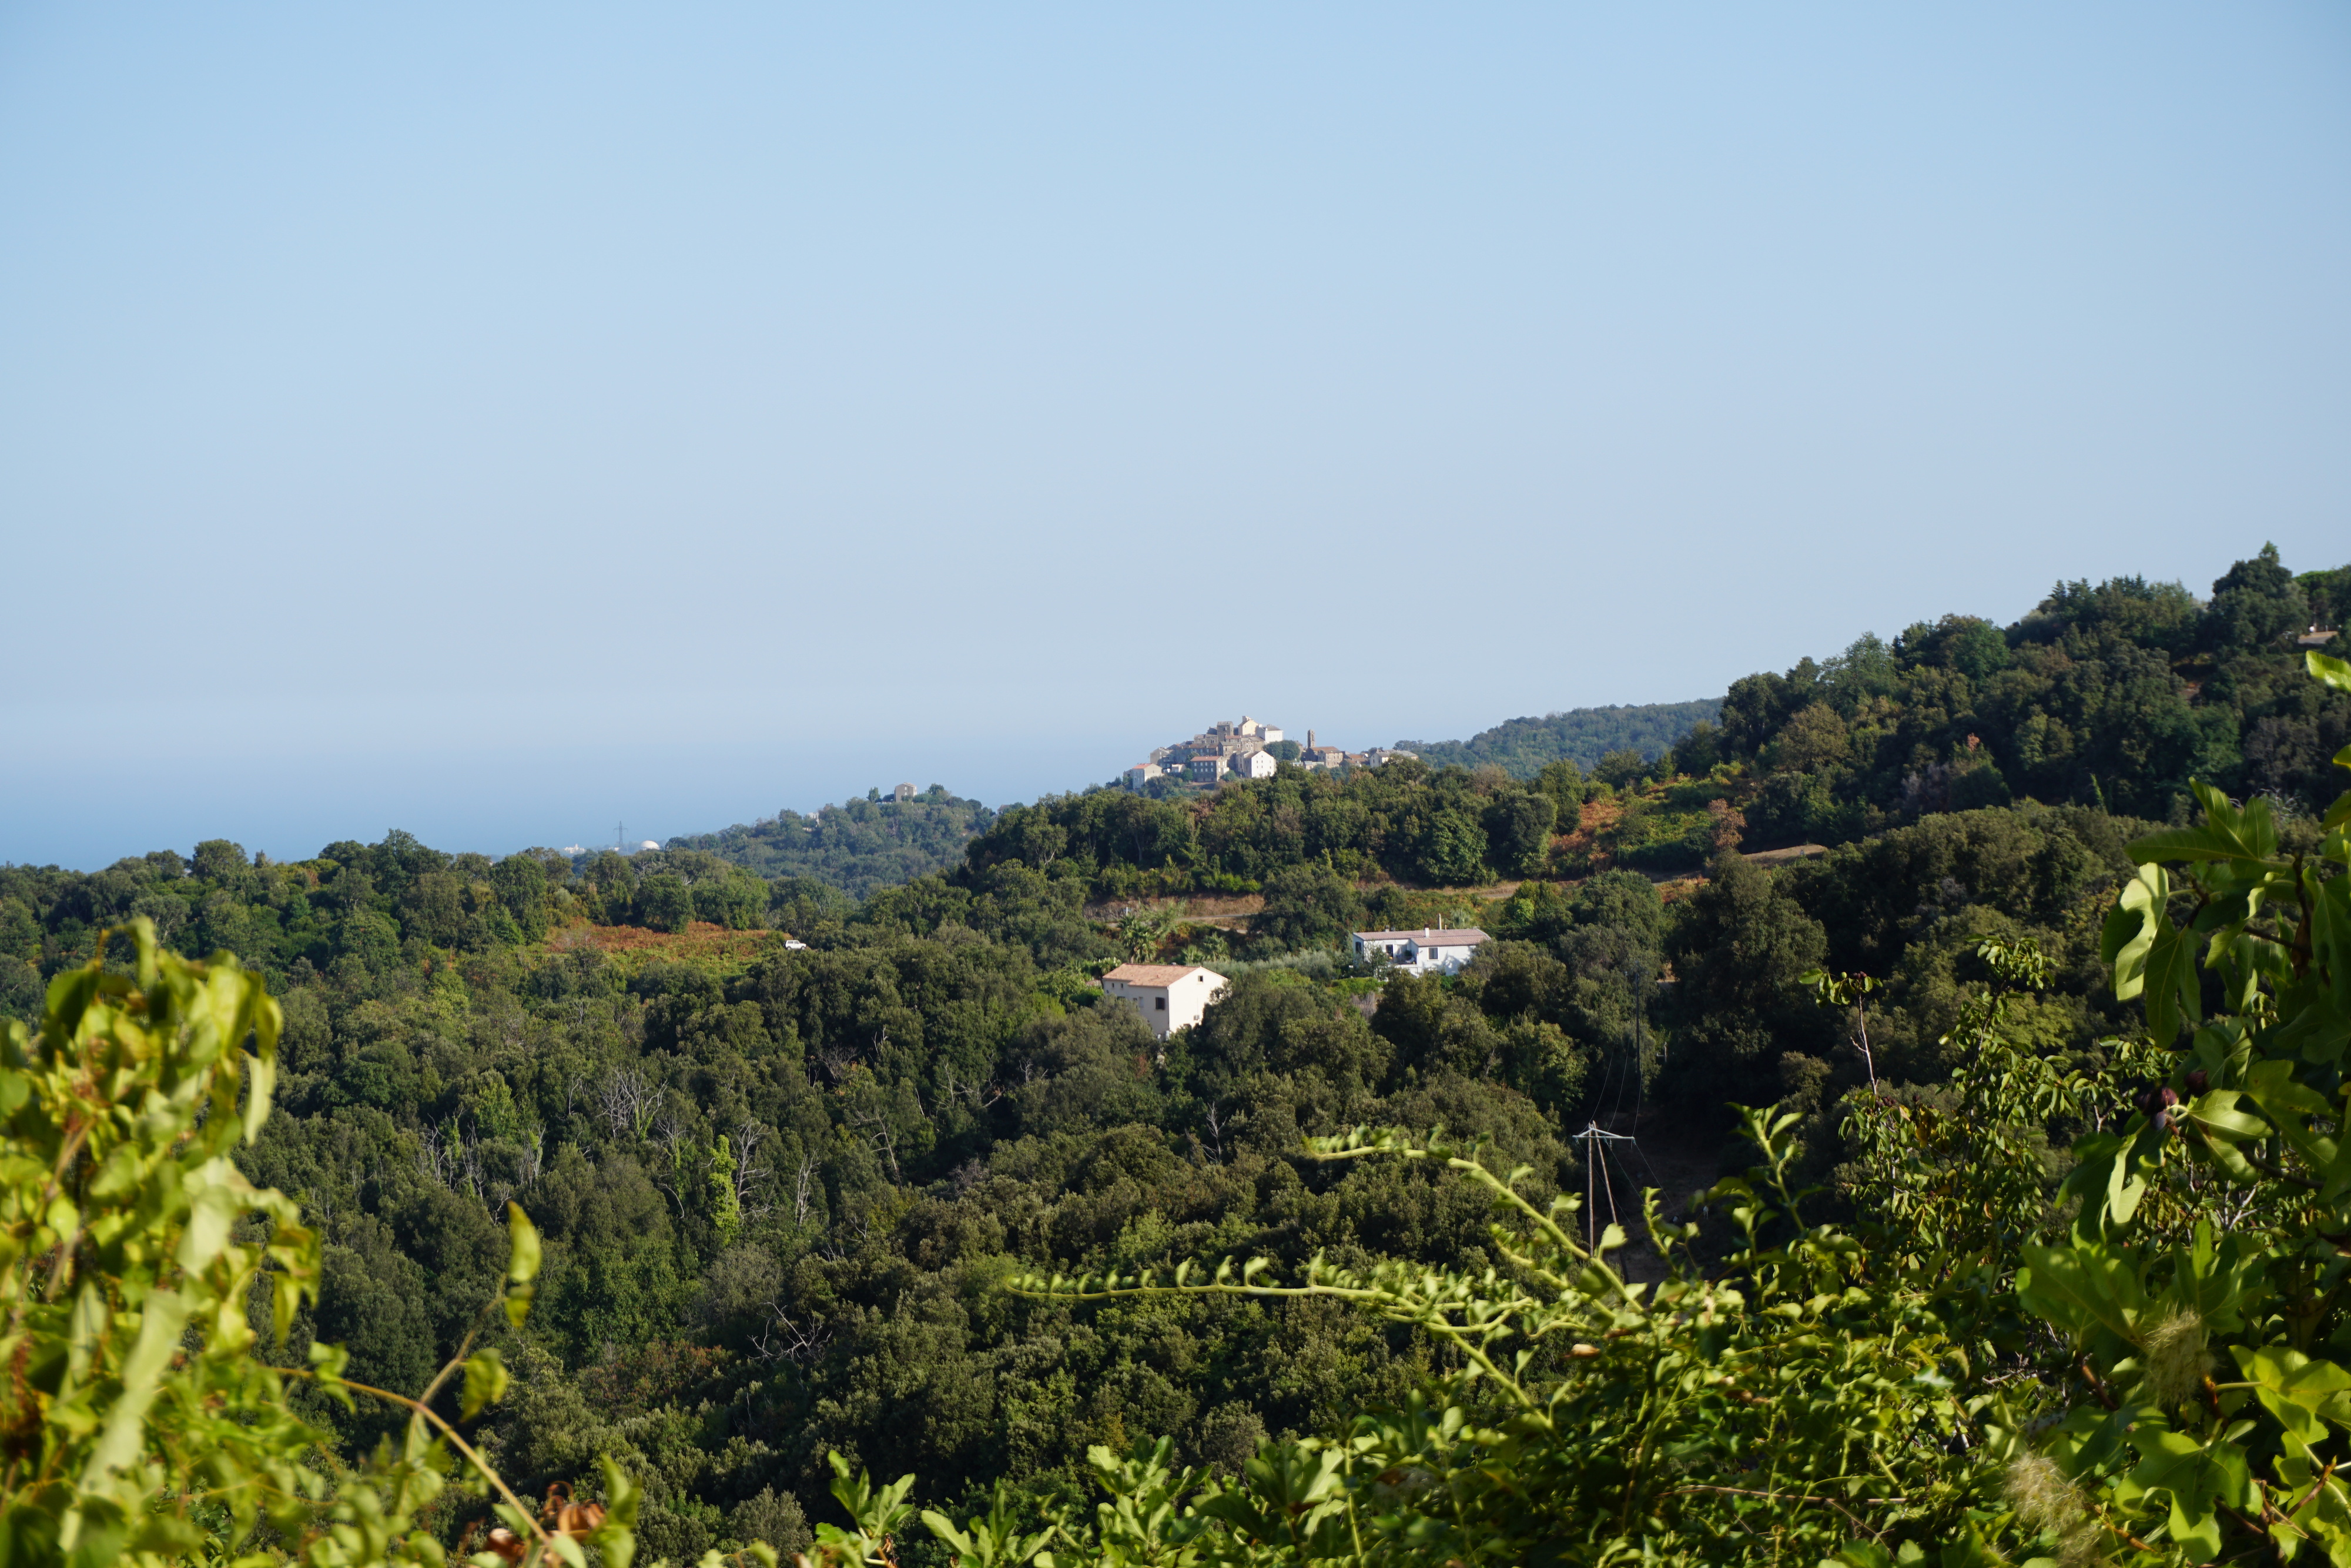
{"label": "bright green foreground foliage with arching shoots filling the lower right", "polygon": [[[2351,665],[2309,668],[2351,689]],[[1531,1204],[1521,1173],[1396,1135],[1317,1152],[1446,1159],[1502,1208],[1500,1267],[1020,1281],[1072,1302],[1319,1295],[1453,1359],[1396,1410],[1267,1446],[1237,1483],[1098,1453],[1112,1500],[1093,1521],[1016,1537],[997,1516],[971,1559],[2351,1561],[2351,795],[2299,853],[2266,802],[2198,795],[2203,825],[2132,846],[2142,872],[2104,926],[2146,1032],[2088,1072],[2020,1048],[2010,992],[2050,966],[1984,943],[2001,985],[1965,1011],[1951,1088],[1848,1095],[1850,1229],[1796,1218],[1796,1119],[1749,1112],[1761,1180],[1712,1194],[1733,1246],[1702,1255],[1695,1225],[1650,1208],[1655,1286],[1610,1267],[1615,1227],[1578,1241],[1573,1197]],[[2179,886],[2165,863],[2189,867]],[[1836,1006],[1867,992],[1810,980]],[[2071,1140],[2064,1208],[2052,1135]]]}

